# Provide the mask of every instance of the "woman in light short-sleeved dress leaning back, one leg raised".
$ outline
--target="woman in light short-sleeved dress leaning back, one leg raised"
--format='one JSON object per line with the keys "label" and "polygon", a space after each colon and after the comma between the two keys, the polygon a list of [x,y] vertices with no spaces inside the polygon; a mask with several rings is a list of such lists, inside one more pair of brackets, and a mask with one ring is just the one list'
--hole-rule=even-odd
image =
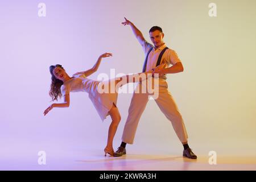
{"label": "woman in light short-sleeved dress leaning back, one leg raised", "polygon": [[[106,118],[107,115],[110,115],[112,118],[112,123],[109,126],[108,133],[108,142],[104,149],[105,156],[106,154],[113,155],[113,138],[115,132],[117,131],[118,124],[121,120],[121,115],[119,114],[117,108],[117,96],[118,96],[118,88],[122,86],[119,81],[126,79],[126,83],[128,82],[138,82],[138,79],[129,79],[131,75],[126,75],[123,77],[114,78],[113,80],[108,81],[95,81],[90,80],[87,77],[92,75],[97,71],[100,66],[101,60],[104,57],[112,56],[112,53],[104,53],[102,54],[93,68],[88,69],[84,72],[77,72],[73,75],[73,77],[69,77],[65,72],[65,69],[57,64],[51,65],[49,67],[49,71],[52,75],[52,83],[51,90],[49,91],[49,95],[52,97],[52,101],[56,100],[57,97],[64,96],[64,102],[60,104],[52,104],[45,111],[44,115],[46,115],[53,107],[69,107],[69,93],[70,92],[87,92],[89,94],[90,100],[93,102],[94,107],[96,108],[98,114],[100,115],[102,121]],[[145,74],[146,77],[151,76],[153,71],[139,73],[133,76],[142,76],[141,74]],[[148,74],[149,73],[149,74]],[[141,81],[141,80],[140,80]],[[109,91],[109,86],[114,84],[114,92],[100,92],[100,89],[105,89]]]}

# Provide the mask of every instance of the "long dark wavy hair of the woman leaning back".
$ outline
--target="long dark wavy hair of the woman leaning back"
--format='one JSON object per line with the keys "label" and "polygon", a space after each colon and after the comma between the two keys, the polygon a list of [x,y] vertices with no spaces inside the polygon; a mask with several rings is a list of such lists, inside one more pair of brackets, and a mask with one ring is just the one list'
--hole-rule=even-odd
{"label": "long dark wavy hair of the woman leaning back", "polygon": [[[60,64],[56,64],[56,65],[51,65],[49,67],[49,71],[52,75],[52,83],[51,83],[51,90],[49,90],[49,96],[52,97],[52,101],[57,101],[58,99],[58,96],[61,98],[62,94],[61,94],[61,91],[60,91],[60,87],[61,85],[63,85],[63,81],[57,79],[54,75],[53,75],[53,69],[56,68],[56,67],[59,67],[61,69],[64,69],[62,67],[62,65]],[[65,69],[64,69],[65,71]]]}

